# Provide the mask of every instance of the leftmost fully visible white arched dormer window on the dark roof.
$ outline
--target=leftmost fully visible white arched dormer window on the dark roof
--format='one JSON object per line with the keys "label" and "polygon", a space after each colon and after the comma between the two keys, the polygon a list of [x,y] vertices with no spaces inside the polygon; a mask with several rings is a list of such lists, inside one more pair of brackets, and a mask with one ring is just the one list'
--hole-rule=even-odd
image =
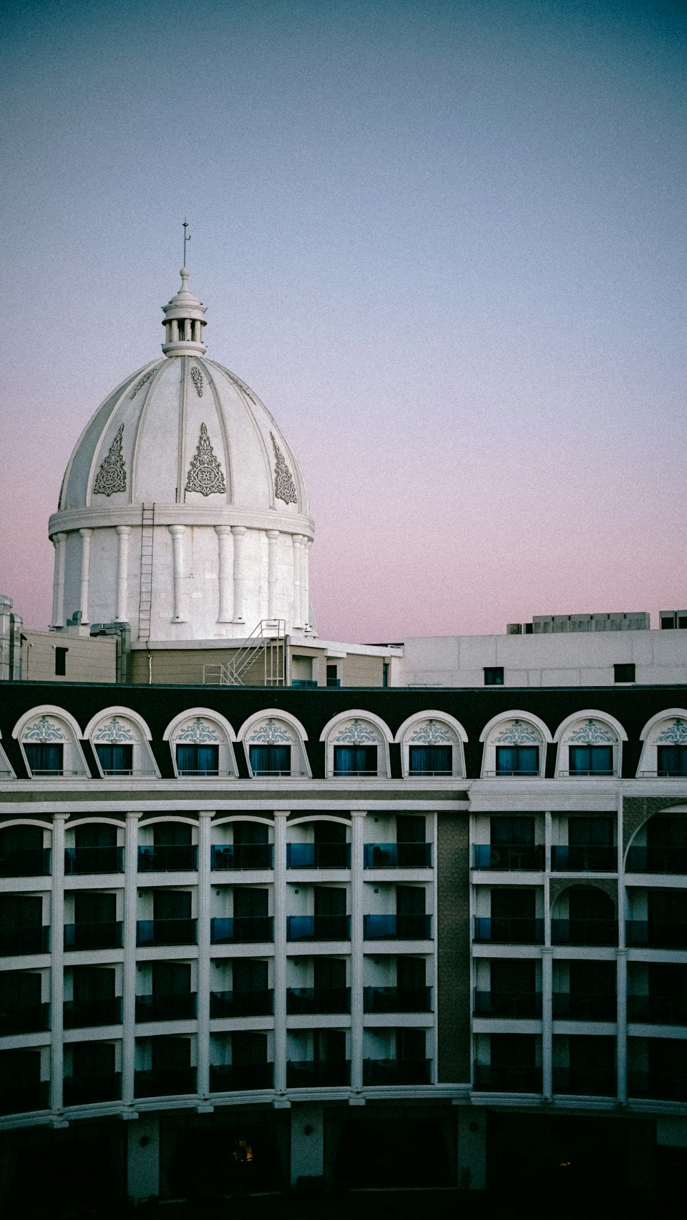
{"label": "leftmost fully visible white arched dormer window on the dark roof", "polygon": [[27,711],[12,730],[32,780],[56,776],[90,778],[81,736],[74,717],[52,705]]}

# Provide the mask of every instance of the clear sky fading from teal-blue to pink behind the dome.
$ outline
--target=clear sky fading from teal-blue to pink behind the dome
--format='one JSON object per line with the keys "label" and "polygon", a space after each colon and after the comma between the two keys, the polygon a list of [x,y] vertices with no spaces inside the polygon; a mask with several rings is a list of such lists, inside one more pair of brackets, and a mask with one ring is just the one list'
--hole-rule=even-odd
{"label": "clear sky fading from teal-blue to pink behind the dome", "polygon": [[84,423],[207,355],[300,458],[322,637],[687,606],[687,9],[17,0],[0,590],[48,623]]}

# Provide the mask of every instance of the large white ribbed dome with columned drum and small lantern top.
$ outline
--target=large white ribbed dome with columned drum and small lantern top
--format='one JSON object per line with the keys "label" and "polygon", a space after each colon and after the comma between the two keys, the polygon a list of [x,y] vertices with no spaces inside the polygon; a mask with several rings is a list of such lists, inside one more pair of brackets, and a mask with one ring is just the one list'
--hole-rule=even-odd
{"label": "large white ribbed dome with columned drum and small lantern top", "polygon": [[282,432],[234,373],[204,357],[204,306],[165,306],[165,355],[110,394],[70,459],[59,511],[54,626],[128,621],[140,640],[306,628],[305,483]]}

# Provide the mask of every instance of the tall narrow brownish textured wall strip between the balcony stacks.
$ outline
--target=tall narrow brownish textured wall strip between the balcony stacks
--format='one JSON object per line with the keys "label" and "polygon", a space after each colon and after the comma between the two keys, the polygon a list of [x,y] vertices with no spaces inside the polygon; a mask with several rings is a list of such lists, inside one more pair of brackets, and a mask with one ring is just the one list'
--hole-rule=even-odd
{"label": "tall narrow brownish textured wall strip between the balcony stacks", "polygon": [[438,1082],[470,1081],[470,820],[437,814]]}

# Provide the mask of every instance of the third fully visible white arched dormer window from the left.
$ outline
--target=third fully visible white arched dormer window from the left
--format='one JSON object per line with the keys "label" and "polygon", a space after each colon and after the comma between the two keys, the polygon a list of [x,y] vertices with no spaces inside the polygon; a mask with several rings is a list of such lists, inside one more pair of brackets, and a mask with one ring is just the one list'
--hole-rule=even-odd
{"label": "third fully visible white arched dormer window from the left", "polygon": [[209,708],[182,711],[165,730],[178,778],[207,780],[238,775],[228,720]]}

